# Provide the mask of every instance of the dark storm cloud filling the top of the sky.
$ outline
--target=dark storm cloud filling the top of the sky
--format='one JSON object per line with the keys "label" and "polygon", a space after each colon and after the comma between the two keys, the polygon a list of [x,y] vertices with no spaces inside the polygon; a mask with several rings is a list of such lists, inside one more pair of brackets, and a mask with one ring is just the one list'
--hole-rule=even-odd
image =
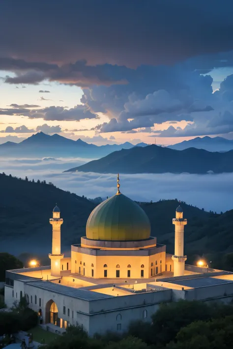
{"label": "dark storm cloud filling the top of the sky", "polygon": [[232,0],[1,1],[0,45],[29,61],[170,64],[231,50],[232,11]]}

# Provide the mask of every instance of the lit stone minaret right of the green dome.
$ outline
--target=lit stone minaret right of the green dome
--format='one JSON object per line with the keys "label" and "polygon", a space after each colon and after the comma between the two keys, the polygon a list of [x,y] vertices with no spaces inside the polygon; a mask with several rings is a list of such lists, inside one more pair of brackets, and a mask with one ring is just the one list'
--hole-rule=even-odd
{"label": "lit stone minaret right of the green dome", "polygon": [[184,226],[187,224],[187,219],[183,218],[183,210],[180,206],[175,211],[175,254],[172,256],[174,261],[174,276],[184,275],[184,262],[187,256],[184,256]]}

